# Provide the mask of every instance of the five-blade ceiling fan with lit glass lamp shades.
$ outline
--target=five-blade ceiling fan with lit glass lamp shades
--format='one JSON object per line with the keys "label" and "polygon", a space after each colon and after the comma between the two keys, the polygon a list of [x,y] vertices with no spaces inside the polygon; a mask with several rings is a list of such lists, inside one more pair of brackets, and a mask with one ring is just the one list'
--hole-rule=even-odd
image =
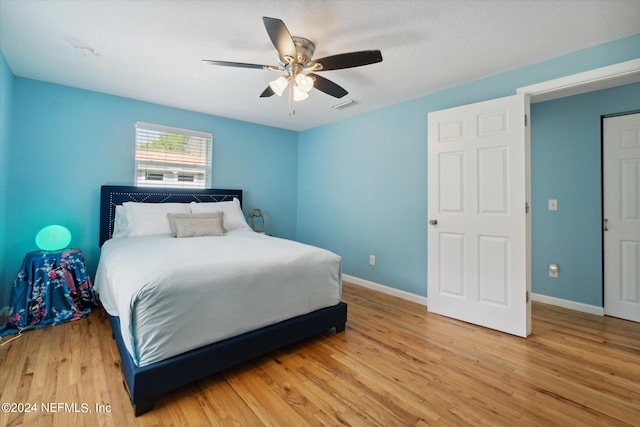
{"label": "five-blade ceiling fan with lit glass lamp shades", "polygon": [[288,87],[290,116],[295,114],[292,102],[306,99],[309,96],[308,92],[314,87],[336,98],[342,98],[349,93],[340,85],[317,75],[317,72],[361,67],[382,62],[382,53],[379,50],[342,53],[312,60],[315,45],[310,40],[304,37],[292,37],[286,25],[280,19],[265,16],[262,21],[271,42],[278,52],[279,66],[208,59],[204,59],[202,62],[224,67],[257,68],[283,73],[269,83],[269,86],[262,92],[260,97],[266,98],[273,94],[282,96]]}

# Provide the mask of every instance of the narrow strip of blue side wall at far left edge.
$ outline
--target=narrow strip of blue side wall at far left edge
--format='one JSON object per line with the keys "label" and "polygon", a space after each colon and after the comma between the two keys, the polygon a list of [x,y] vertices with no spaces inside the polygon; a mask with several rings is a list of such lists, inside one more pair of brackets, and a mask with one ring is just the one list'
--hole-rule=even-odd
{"label": "narrow strip of blue side wall at far left edge", "polygon": [[5,260],[8,202],[5,183],[8,179],[12,99],[13,74],[4,55],[0,52],[0,309],[7,305],[1,303],[8,300],[10,292],[8,287],[2,286],[2,279],[7,270]]}

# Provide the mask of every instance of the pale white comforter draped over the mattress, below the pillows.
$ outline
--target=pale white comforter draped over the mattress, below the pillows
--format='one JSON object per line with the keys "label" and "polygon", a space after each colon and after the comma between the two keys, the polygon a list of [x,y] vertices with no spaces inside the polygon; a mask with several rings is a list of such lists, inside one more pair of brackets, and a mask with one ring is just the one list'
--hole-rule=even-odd
{"label": "pale white comforter draped over the mattress, below the pillows", "polygon": [[94,289],[138,366],[340,302],[341,258],[236,230],[113,238]]}

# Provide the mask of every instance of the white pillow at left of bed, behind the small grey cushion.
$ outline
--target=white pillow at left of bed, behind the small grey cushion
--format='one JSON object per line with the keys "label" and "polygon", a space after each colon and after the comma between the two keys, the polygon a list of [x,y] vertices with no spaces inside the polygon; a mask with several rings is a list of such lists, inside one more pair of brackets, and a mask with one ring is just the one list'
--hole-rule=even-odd
{"label": "white pillow at left of bed, behind the small grey cushion", "polygon": [[129,236],[171,234],[170,213],[189,213],[188,203],[138,203],[122,204],[129,223]]}

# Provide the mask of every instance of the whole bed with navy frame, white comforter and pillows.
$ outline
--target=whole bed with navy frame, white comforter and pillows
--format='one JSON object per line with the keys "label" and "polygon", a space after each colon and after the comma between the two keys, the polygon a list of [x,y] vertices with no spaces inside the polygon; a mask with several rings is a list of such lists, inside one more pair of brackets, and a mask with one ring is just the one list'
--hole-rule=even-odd
{"label": "whole bed with navy frame, white comforter and pillows", "polygon": [[[241,203],[242,190],[101,188],[94,288],[109,315],[136,416],[168,391],[321,332],[345,330],[340,257],[253,232]],[[165,227],[158,212],[171,218],[168,235],[154,233],[154,226]],[[123,226],[122,218],[132,215]],[[131,231],[145,227],[151,228]],[[231,256],[237,252],[241,259]]]}

